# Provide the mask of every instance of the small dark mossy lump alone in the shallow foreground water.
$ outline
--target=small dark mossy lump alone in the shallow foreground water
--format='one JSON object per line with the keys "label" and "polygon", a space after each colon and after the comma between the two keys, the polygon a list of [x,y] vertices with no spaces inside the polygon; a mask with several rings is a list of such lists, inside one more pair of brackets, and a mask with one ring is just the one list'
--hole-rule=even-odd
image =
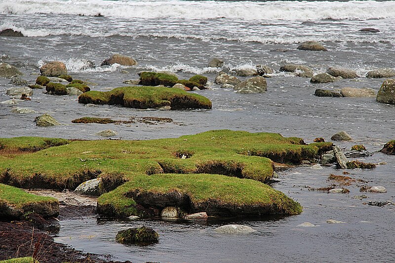
{"label": "small dark mossy lump alone in the shallow foreground water", "polygon": [[159,234],[149,227],[138,227],[121,230],[115,239],[122,244],[152,244],[159,241]]}

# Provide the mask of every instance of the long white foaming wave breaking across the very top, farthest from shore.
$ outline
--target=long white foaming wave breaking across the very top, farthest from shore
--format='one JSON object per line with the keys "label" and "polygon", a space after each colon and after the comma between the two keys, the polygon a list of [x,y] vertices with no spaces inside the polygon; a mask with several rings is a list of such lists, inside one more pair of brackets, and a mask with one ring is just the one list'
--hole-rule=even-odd
{"label": "long white foaming wave breaking across the very top, farthest from shore", "polygon": [[13,0],[0,14],[102,14],[116,18],[317,20],[395,18],[395,1]]}

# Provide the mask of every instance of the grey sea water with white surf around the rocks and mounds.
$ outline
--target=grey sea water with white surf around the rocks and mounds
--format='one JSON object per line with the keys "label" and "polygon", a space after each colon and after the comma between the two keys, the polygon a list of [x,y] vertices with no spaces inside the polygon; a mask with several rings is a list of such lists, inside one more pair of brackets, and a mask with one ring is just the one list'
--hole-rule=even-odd
{"label": "grey sea water with white surf around the rocks and mounds", "polygon": [[[395,106],[375,98],[314,96],[316,89],[343,87],[380,89],[383,78],[366,78],[368,71],[395,68],[395,1],[222,1],[222,0],[0,0],[0,31],[20,31],[25,37],[0,37],[0,60],[11,64],[34,82],[48,61],[62,61],[74,78],[91,82],[92,90],[108,91],[138,79],[140,71],[170,71],[180,78],[200,74],[210,89],[193,91],[212,101],[212,110],[137,110],[117,106],[85,107],[77,96],[54,96],[34,90],[31,101],[0,103],[0,137],[41,136],[103,140],[174,138],[214,129],[275,132],[312,143],[316,137],[330,142],[346,131],[349,142],[334,142],[344,149],[363,144],[374,153],[358,158],[382,163],[373,170],[349,170],[349,176],[384,186],[387,193],[361,193],[360,184],[349,194],[311,191],[326,187],[334,166],[297,166],[278,172],[273,187],[302,204],[301,215],[285,218],[216,219],[190,221],[109,221],[100,217],[62,221],[56,240],[105,259],[132,262],[395,262],[395,205],[371,206],[369,201],[395,201],[395,157],[379,150],[395,139]],[[377,33],[359,31],[374,28]],[[304,51],[304,41],[322,43],[328,51]],[[100,66],[115,53],[133,57],[137,66]],[[208,67],[219,58],[224,67]],[[92,63],[96,65],[91,67]],[[314,74],[330,67],[356,71],[360,76],[315,84],[310,78],[279,72],[284,64],[303,64]],[[238,94],[214,82],[222,70],[267,65],[275,70],[267,78],[268,90]],[[239,77],[244,80],[248,77]],[[9,79],[0,79],[0,102],[11,99]],[[12,113],[15,107],[36,113]],[[35,117],[49,113],[64,125],[37,127]],[[172,118],[171,123],[73,124],[83,116],[130,120]],[[355,195],[365,194],[359,200]],[[328,224],[327,220],[342,221]],[[309,222],[316,226],[301,227]],[[250,235],[214,232],[224,224],[249,225]],[[151,226],[159,243],[124,246],[115,242],[118,230]],[[107,255],[107,256],[106,256]],[[72,259],[71,259],[72,260]]]}

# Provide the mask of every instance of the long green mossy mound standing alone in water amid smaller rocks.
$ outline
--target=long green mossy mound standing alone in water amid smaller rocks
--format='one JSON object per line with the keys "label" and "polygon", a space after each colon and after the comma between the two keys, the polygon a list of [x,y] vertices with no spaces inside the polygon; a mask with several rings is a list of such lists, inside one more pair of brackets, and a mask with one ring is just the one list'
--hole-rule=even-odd
{"label": "long green mossy mound standing alone in water amid smaller rocks", "polygon": [[189,94],[180,89],[150,86],[120,87],[107,92],[88,91],[81,94],[78,101],[83,104],[120,105],[137,109],[164,106],[170,106],[172,110],[211,109],[211,101],[201,95]]}

